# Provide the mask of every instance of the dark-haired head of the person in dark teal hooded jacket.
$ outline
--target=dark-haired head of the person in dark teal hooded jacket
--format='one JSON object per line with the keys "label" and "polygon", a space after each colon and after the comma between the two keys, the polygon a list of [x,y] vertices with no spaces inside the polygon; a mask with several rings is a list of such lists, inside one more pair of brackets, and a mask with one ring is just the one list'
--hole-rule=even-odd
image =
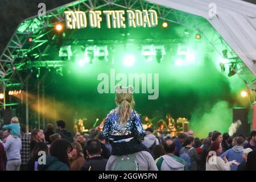
{"label": "dark-haired head of the person in dark teal hooded jacket", "polygon": [[65,140],[65,139],[59,139],[59,140],[53,141],[49,148],[49,154],[51,156],[55,156],[61,162],[67,164],[68,167],[70,167],[68,154],[71,151],[72,151],[72,145],[70,142],[68,142],[68,140]]}

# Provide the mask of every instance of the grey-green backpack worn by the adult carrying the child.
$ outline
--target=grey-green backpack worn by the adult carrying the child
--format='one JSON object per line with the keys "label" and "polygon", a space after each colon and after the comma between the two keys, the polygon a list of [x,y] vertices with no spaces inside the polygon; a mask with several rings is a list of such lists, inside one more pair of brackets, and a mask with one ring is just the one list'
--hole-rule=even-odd
{"label": "grey-green backpack worn by the adult carrying the child", "polygon": [[126,156],[117,156],[117,162],[113,171],[138,171],[139,167],[137,162],[135,162],[136,154],[137,153]]}

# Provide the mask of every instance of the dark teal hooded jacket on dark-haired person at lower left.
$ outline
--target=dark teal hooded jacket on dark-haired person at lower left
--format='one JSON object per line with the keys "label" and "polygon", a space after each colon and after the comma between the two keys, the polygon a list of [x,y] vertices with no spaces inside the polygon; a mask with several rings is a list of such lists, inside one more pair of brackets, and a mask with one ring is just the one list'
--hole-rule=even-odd
{"label": "dark teal hooded jacket on dark-haired person at lower left", "polygon": [[69,171],[67,164],[61,162],[57,157],[47,155],[46,164],[38,164],[39,171]]}

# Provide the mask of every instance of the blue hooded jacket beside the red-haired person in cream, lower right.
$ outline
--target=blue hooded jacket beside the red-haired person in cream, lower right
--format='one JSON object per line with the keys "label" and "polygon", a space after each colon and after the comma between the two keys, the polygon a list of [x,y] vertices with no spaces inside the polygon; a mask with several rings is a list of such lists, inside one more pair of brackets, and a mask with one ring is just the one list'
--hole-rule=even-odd
{"label": "blue hooded jacket beside the red-haired person in cream, lower right", "polygon": [[[232,160],[237,160],[238,163],[242,163],[242,155],[243,146],[234,146],[233,148],[230,148],[229,150],[225,151],[220,157],[223,158],[224,156],[226,156],[226,159],[228,159],[229,162]],[[232,164],[230,169],[231,171],[237,171],[237,165]]]}

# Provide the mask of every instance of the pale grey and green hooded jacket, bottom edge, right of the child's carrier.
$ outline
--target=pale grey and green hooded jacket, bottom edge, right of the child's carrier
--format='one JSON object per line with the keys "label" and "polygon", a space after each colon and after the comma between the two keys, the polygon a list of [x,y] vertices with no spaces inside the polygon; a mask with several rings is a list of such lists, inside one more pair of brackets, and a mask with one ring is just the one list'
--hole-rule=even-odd
{"label": "pale grey and green hooded jacket, bottom edge, right of the child's carrier", "polygon": [[175,155],[163,155],[156,159],[159,171],[187,171],[188,168],[183,159]]}

